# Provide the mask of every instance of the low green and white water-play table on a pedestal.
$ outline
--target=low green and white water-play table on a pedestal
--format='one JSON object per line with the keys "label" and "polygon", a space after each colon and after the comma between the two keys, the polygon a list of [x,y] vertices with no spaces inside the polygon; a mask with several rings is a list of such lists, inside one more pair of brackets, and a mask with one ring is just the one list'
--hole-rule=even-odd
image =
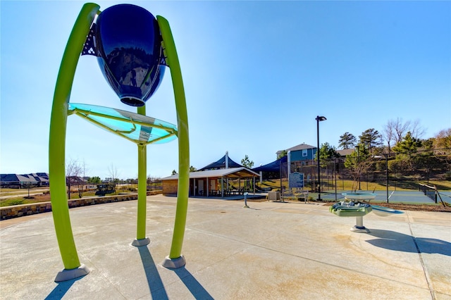
{"label": "low green and white water-play table on a pedestal", "polygon": [[373,211],[376,215],[388,216],[396,213],[402,213],[392,208],[383,206],[371,206],[368,203],[361,202],[365,200],[376,199],[377,194],[369,192],[349,192],[342,193],[345,196],[345,201],[340,201],[333,206],[330,206],[329,211],[339,217],[355,217],[356,225],[351,228],[352,232],[364,232],[369,233],[370,230],[364,226],[364,215],[367,215]]}

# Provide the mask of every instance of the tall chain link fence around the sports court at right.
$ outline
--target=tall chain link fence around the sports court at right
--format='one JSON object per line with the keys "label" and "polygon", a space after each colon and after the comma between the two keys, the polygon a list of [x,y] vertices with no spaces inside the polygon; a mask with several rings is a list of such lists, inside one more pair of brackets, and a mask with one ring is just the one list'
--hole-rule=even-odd
{"label": "tall chain link fence around the sports court at right", "polygon": [[[419,184],[451,191],[451,149],[417,151],[409,154],[373,154],[350,163],[350,158],[320,159],[321,192],[390,189],[418,191]],[[295,161],[290,172],[304,174],[304,189],[318,191],[318,165],[314,161]],[[288,163],[280,164],[279,173],[264,177],[288,188]]]}

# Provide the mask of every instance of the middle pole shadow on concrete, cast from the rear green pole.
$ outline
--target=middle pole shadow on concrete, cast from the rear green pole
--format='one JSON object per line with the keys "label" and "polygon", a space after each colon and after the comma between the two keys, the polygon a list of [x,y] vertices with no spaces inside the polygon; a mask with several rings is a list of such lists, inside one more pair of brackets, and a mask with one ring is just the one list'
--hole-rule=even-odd
{"label": "middle pole shadow on concrete, cast from the rear green pole", "polygon": [[140,251],[142,266],[146,273],[147,284],[149,285],[152,299],[168,300],[168,294],[166,293],[166,289],[164,289],[163,281],[156,269],[154,259],[152,258],[149,249],[147,246],[139,246],[137,249]]}

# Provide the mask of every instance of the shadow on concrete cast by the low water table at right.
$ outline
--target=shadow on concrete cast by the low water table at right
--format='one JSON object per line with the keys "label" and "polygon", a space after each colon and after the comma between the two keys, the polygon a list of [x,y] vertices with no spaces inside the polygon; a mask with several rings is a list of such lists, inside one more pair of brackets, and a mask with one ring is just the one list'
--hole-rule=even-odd
{"label": "shadow on concrete cast by the low water table at right", "polygon": [[[369,235],[379,239],[371,239],[366,242],[384,249],[451,256],[451,243],[441,239],[412,237],[412,235],[404,235],[400,232],[376,229],[371,229]],[[412,244],[412,240],[414,244]]]}

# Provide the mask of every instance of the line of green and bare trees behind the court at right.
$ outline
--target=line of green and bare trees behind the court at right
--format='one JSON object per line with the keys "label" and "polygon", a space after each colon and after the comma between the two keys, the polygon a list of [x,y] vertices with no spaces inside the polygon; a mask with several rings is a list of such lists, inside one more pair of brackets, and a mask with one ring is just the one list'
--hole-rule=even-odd
{"label": "line of green and bare trees behind the court at right", "polygon": [[[340,135],[340,149],[355,149],[347,155],[344,166],[354,180],[363,174],[381,169],[381,158],[389,158],[388,170],[393,173],[420,175],[428,180],[431,175],[451,179],[451,127],[440,130],[434,137],[422,138],[424,128],[419,121],[405,123],[401,118],[389,120],[382,132],[369,128],[359,135]],[[323,143],[319,149],[322,166],[340,155],[334,146]]]}

